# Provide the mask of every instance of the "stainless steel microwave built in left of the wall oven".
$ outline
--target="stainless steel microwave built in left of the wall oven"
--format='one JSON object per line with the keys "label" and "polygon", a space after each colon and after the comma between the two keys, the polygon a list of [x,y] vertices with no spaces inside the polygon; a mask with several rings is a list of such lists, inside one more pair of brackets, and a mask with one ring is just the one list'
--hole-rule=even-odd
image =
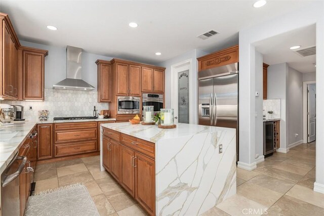
{"label": "stainless steel microwave built in left of the wall oven", "polygon": [[117,97],[118,110],[117,114],[139,114],[140,98],[130,96]]}

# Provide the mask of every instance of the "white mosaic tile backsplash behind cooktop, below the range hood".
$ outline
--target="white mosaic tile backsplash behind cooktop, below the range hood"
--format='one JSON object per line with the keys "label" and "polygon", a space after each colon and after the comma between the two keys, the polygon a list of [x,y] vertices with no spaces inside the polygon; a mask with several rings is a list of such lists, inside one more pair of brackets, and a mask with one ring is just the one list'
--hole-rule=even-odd
{"label": "white mosaic tile backsplash behind cooktop, below the range hood", "polygon": [[[45,101],[0,101],[0,103],[24,106],[24,118],[37,120],[38,110],[49,110],[49,119],[61,116],[93,116],[96,106],[98,112],[108,109],[108,103],[97,102],[97,92],[45,89]],[[28,110],[32,106],[32,110]]]}

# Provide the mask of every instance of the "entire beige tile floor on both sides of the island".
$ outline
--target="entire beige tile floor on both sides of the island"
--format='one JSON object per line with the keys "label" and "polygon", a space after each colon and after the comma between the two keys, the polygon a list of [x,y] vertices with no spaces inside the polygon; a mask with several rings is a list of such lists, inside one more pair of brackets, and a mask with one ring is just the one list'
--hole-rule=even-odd
{"label": "entire beige tile floor on both sides of the island", "polygon": [[[99,156],[39,164],[35,181],[35,193],[84,183],[100,215],[146,215],[107,172],[100,171]],[[313,191],[314,181],[315,142],[287,154],[275,153],[253,171],[237,168],[237,194],[204,215],[324,215],[324,194]]]}

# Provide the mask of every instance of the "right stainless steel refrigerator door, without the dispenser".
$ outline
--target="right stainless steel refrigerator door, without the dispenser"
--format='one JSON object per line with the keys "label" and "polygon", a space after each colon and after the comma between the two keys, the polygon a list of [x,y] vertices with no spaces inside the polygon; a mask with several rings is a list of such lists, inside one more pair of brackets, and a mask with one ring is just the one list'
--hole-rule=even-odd
{"label": "right stainless steel refrigerator door, without the dispenser", "polygon": [[213,125],[237,128],[238,74],[215,77]]}

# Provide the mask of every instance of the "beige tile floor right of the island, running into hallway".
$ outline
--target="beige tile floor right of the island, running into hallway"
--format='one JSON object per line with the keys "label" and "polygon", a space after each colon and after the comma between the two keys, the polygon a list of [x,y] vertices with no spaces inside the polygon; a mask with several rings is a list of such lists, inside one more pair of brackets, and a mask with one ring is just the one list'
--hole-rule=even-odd
{"label": "beige tile floor right of the island, running into hallway", "polygon": [[324,215],[324,194],[313,191],[315,145],[274,153],[253,171],[237,168],[237,194],[204,215]]}

